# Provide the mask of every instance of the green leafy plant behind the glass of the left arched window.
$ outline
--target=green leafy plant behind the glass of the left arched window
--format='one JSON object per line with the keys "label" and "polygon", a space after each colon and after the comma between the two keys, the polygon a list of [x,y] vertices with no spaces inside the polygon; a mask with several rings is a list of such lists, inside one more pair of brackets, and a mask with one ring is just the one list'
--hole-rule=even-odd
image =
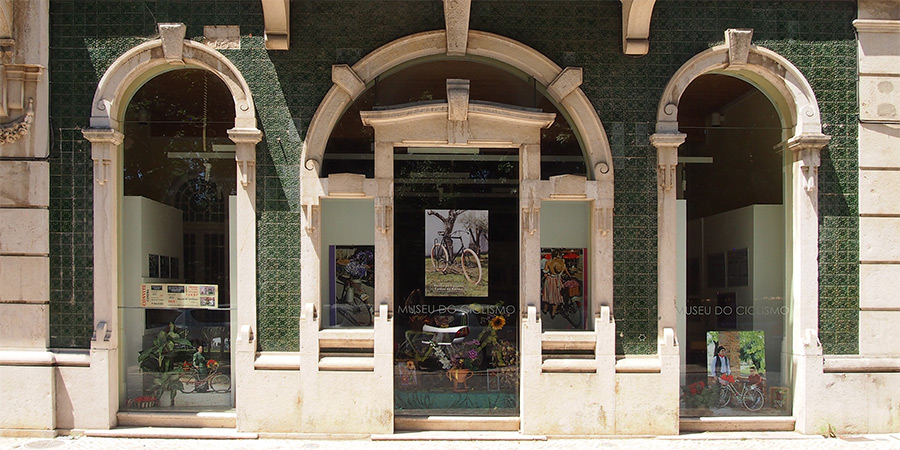
{"label": "green leafy plant behind the glass of the left arched window", "polygon": [[175,403],[175,396],[182,389],[181,368],[175,367],[174,359],[176,350],[190,348],[191,341],[184,338],[182,331],[169,324],[167,329],[159,332],[150,347],[144,349],[138,355],[138,364],[141,369],[155,374],[153,377],[153,392],[157,398],[162,399],[168,392],[170,405]]}

